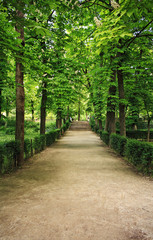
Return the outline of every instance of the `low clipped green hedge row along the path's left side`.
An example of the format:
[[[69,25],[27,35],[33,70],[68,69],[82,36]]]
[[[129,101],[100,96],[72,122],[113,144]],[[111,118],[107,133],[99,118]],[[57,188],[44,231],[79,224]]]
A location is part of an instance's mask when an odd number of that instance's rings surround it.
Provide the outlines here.
[[[50,146],[63,134],[69,127],[70,123],[66,122],[61,129],[52,130],[45,135],[38,135],[32,139],[24,140],[24,159]],[[11,172],[16,167],[16,155],[20,151],[19,142],[9,141],[0,143],[0,173]]]

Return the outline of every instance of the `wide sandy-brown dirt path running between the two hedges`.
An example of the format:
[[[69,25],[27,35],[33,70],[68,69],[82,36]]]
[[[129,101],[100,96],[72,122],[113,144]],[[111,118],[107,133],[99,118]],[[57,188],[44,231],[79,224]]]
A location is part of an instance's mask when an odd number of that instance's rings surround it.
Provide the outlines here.
[[[0,179],[0,240],[153,239],[153,182],[90,131]]]

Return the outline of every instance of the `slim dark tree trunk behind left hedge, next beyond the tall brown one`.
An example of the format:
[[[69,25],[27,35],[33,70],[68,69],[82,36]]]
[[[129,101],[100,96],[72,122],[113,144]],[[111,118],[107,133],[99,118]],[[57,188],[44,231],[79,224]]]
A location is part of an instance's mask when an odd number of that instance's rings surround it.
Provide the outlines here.
[[[47,82],[43,82],[40,116],[40,134],[45,134],[46,128],[46,102],[47,102]]]

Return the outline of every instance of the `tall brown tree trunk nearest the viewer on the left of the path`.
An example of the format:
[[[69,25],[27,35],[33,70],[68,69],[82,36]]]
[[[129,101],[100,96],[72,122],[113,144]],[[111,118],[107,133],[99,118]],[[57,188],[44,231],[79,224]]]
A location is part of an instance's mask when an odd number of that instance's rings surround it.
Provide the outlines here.
[[[16,12],[17,17],[23,21],[24,14],[21,11]],[[22,40],[24,46],[24,29],[23,26],[17,24],[16,31],[20,34],[19,39]],[[18,55],[23,56],[23,49],[20,48]],[[17,154],[17,166],[21,166],[24,161],[24,83],[23,83],[23,65],[21,58],[16,59],[16,132],[15,140],[20,142],[20,151]]]

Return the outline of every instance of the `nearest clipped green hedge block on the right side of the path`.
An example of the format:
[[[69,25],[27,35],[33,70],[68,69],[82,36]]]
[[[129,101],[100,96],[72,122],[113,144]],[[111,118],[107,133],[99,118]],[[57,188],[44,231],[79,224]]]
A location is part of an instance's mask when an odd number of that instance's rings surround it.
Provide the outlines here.
[[[125,156],[139,170],[153,173],[153,146],[151,144],[129,139]]]

